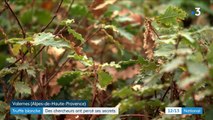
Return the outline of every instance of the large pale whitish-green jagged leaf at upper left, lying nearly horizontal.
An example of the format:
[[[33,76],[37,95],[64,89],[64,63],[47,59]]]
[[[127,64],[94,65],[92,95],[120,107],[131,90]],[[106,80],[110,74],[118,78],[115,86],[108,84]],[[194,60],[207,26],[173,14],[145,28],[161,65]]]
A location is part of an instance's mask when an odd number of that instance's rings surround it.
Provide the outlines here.
[[[70,48],[68,41],[57,38],[52,33],[38,33],[33,36],[33,45],[52,46],[57,48]]]

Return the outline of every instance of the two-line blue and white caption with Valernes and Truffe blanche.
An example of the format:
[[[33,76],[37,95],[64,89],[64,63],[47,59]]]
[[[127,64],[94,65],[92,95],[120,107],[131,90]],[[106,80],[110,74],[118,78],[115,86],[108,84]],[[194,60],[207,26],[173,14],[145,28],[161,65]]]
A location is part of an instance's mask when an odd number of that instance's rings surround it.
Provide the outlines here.
[[[88,107],[86,100],[12,100],[10,114],[118,114],[118,107]]]

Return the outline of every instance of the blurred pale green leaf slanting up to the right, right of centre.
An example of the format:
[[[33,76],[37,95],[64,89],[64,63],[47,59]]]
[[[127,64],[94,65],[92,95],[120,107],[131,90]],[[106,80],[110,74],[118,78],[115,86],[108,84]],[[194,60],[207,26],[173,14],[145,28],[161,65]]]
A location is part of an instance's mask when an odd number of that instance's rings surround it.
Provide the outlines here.
[[[161,72],[171,72],[174,69],[178,68],[182,64],[184,64],[184,58],[183,57],[177,57],[177,58],[173,59],[171,62],[164,65]]]

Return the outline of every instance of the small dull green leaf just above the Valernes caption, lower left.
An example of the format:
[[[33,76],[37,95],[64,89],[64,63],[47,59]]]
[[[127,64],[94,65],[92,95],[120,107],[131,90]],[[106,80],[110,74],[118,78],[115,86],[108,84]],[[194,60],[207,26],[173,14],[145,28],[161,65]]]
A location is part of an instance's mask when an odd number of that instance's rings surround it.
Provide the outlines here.
[[[31,89],[27,83],[15,82],[14,87],[17,93],[21,94],[31,94]]]

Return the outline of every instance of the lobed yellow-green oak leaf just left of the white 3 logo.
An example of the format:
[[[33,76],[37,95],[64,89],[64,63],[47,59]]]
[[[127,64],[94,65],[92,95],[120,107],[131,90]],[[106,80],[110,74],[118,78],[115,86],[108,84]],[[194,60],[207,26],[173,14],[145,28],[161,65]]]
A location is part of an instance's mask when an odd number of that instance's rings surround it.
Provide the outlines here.
[[[165,13],[156,17],[156,21],[162,25],[170,27],[178,24],[179,20],[184,20],[187,13],[180,8],[170,6],[166,9]]]

